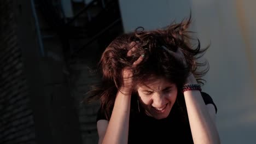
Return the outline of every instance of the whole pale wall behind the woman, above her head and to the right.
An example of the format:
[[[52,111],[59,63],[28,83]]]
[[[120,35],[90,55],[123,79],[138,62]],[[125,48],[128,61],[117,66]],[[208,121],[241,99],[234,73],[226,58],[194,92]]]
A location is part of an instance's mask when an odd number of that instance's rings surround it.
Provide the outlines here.
[[[120,0],[125,32],[146,30],[181,21],[191,9],[210,71],[203,90],[218,106],[222,143],[256,141],[256,1],[249,0]]]

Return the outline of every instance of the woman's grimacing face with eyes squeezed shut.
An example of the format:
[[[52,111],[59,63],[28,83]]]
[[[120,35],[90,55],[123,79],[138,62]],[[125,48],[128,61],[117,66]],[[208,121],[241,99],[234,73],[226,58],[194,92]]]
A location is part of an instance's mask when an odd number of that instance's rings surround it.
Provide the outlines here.
[[[166,118],[177,98],[177,86],[166,79],[149,79],[145,85],[138,86],[139,101],[148,116],[156,119]]]

